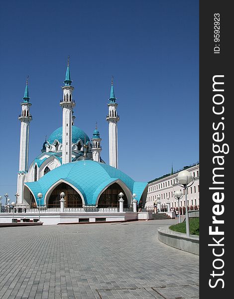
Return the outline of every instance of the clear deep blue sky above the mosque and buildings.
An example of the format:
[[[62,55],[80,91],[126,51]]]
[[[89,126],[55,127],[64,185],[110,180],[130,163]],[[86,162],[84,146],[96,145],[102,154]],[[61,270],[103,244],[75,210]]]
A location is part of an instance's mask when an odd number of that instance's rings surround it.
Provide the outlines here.
[[[32,103],[29,162],[62,126],[67,56],[75,125],[98,122],[109,163],[108,98],[114,76],[119,169],[148,181],[199,160],[199,1],[0,2],[0,195],[16,192],[26,76]]]

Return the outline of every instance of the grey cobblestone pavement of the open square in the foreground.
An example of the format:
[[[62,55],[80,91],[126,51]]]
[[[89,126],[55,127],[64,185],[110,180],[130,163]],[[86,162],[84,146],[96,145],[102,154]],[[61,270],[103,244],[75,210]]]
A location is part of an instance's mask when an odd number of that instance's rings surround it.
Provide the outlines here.
[[[198,298],[199,257],[158,240],[166,223],[0,228],[0,298]]]

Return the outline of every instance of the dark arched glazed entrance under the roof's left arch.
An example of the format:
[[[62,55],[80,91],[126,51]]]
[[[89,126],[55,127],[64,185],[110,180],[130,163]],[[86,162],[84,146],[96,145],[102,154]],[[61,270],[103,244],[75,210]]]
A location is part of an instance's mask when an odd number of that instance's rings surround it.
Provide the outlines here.
[[[79,208],[83,206],[82,198],[75,189],[66,183],[60,183],[52,193],[48,200],[48,208],[59,208],[60,207],[60,193],[64,192],[65,208]]]

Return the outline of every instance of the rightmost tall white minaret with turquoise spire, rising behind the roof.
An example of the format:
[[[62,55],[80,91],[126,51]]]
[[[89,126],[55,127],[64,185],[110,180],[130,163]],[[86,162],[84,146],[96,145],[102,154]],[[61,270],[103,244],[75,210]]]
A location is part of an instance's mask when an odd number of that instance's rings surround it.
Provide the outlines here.
[[[111,96],[108,103],[109,115],[107,116],[107,121],[109,122],[109,159],[110,165],[118,168],[118,132],[117,132],[117,122],[119,121],[119,116],[117,115],[117,106],[113,77],[112,77],[112,87]]]

